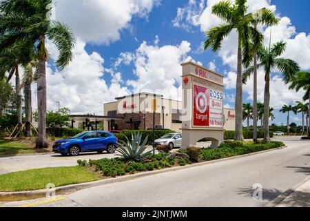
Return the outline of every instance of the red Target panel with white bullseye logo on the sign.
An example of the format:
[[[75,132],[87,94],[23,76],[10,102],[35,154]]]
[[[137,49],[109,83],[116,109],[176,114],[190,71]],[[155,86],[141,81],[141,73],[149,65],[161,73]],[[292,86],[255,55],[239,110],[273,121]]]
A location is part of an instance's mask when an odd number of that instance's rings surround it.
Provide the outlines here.
[[[209,90],[194,85],[194,126],[209,126]]]

